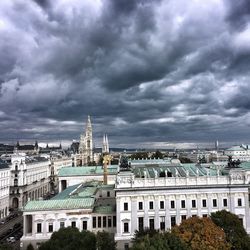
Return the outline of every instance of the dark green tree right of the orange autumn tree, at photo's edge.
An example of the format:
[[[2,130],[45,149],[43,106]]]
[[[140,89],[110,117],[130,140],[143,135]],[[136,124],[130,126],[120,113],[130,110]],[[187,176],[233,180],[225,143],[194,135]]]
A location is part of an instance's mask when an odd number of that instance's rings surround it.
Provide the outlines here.
[[[231,249],[250,250],[250,238],[237,215],[221,210],[212,213],[211,219],[224,230]]]

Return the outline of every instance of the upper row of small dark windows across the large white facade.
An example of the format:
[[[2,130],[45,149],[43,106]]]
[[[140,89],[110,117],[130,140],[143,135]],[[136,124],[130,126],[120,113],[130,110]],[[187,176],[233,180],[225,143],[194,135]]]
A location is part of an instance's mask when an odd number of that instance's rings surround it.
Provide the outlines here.
[[[189,204],[187,204],[186,200],[180,200],[180,208],[187,208],[187,207],[191,207],[191,208],[197,208],[197,200],[193,199],[188,201]],[[212,199],[212,207],[218,207],[218,199]],[[175,209],[177,207],[176,204],[176,200],[170,200],[170,204],[169,204],[169,208],[170,209]],[[144,203],[142,201],[138,202],[138,210],[143,210],[144,209]],[[228,207],[228,199],[224,198],[222,200],[222,205],[223,207]],[[237,198],[237,206],[238,207],[242,207],[243,206],[243,202],[242,202],[242,198]],[[207,199],[202,199],[201,200],[201,207],[206,208],[208,207],[208,200]],[[160,201],[159,202],[159,209],[165,209],[165,201]],[[154,210],[155,209],[155,202],[154,201],[149,201],[148,202],[148,209],[149,210]],[[124,211],[129,211],[129,203],[128,202],[124,202],[123,203],[123,210]]]

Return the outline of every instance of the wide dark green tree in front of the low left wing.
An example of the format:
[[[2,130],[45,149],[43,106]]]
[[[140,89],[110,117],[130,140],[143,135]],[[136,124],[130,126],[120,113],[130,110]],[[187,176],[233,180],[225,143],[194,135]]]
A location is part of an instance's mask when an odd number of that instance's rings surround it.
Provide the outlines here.
[[[39,250],[95,250],[96,236],[89,231],[79,232],[77,228],[61,228],[54,232],[50,240],[43,243]]]

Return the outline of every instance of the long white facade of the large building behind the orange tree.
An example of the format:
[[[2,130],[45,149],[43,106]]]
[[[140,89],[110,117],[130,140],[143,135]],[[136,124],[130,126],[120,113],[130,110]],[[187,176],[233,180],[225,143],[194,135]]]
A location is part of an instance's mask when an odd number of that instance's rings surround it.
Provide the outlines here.
[[[250,171],[230,170],[223,176],[209,169],[198,169],[196,175],[190,175],[188,168],[182,170],[175,168],[171,177],[159,177],[156,172],[145,178],[129,171],[117,175],[118,249],[131,245],[135,230],[167,230],[188,217],[207,217],[223,209],[238,215],[250,233]]]

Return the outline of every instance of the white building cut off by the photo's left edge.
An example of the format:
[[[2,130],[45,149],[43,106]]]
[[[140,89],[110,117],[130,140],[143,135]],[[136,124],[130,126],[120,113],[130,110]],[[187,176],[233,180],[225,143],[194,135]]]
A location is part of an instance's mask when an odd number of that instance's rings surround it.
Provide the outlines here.
[[[9,214],[10,168],[0,159],[0,219]]]

